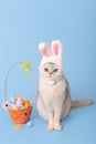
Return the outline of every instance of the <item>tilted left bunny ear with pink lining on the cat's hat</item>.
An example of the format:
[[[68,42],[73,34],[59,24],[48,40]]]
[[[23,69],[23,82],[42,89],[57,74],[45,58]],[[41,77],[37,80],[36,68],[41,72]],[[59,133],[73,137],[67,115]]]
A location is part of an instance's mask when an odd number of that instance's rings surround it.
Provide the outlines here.
[[[51,52],[46,43],[40,43],[39,44],[39,50],[43,54],[43,56],[50,56]]]

